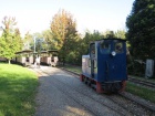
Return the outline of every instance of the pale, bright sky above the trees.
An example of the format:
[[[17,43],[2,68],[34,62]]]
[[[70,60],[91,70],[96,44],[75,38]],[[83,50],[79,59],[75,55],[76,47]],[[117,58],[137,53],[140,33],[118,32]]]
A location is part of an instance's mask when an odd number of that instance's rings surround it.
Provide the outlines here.
[[[3,17],[14,17],[22,35],[50,29],[52,18],[64,9],[73,15],[80,33],[86,30],[125,30],[134,0],[0,0]]]

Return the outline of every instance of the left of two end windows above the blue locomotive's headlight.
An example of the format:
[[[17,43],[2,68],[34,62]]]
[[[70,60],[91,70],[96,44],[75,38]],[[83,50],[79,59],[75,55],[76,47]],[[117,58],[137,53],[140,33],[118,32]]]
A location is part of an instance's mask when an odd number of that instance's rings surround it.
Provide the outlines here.
[[[111,42],[110,41],[101,42],[100,49],[101,49],[101,52],[104,54],[110,53],[111,52]]]

